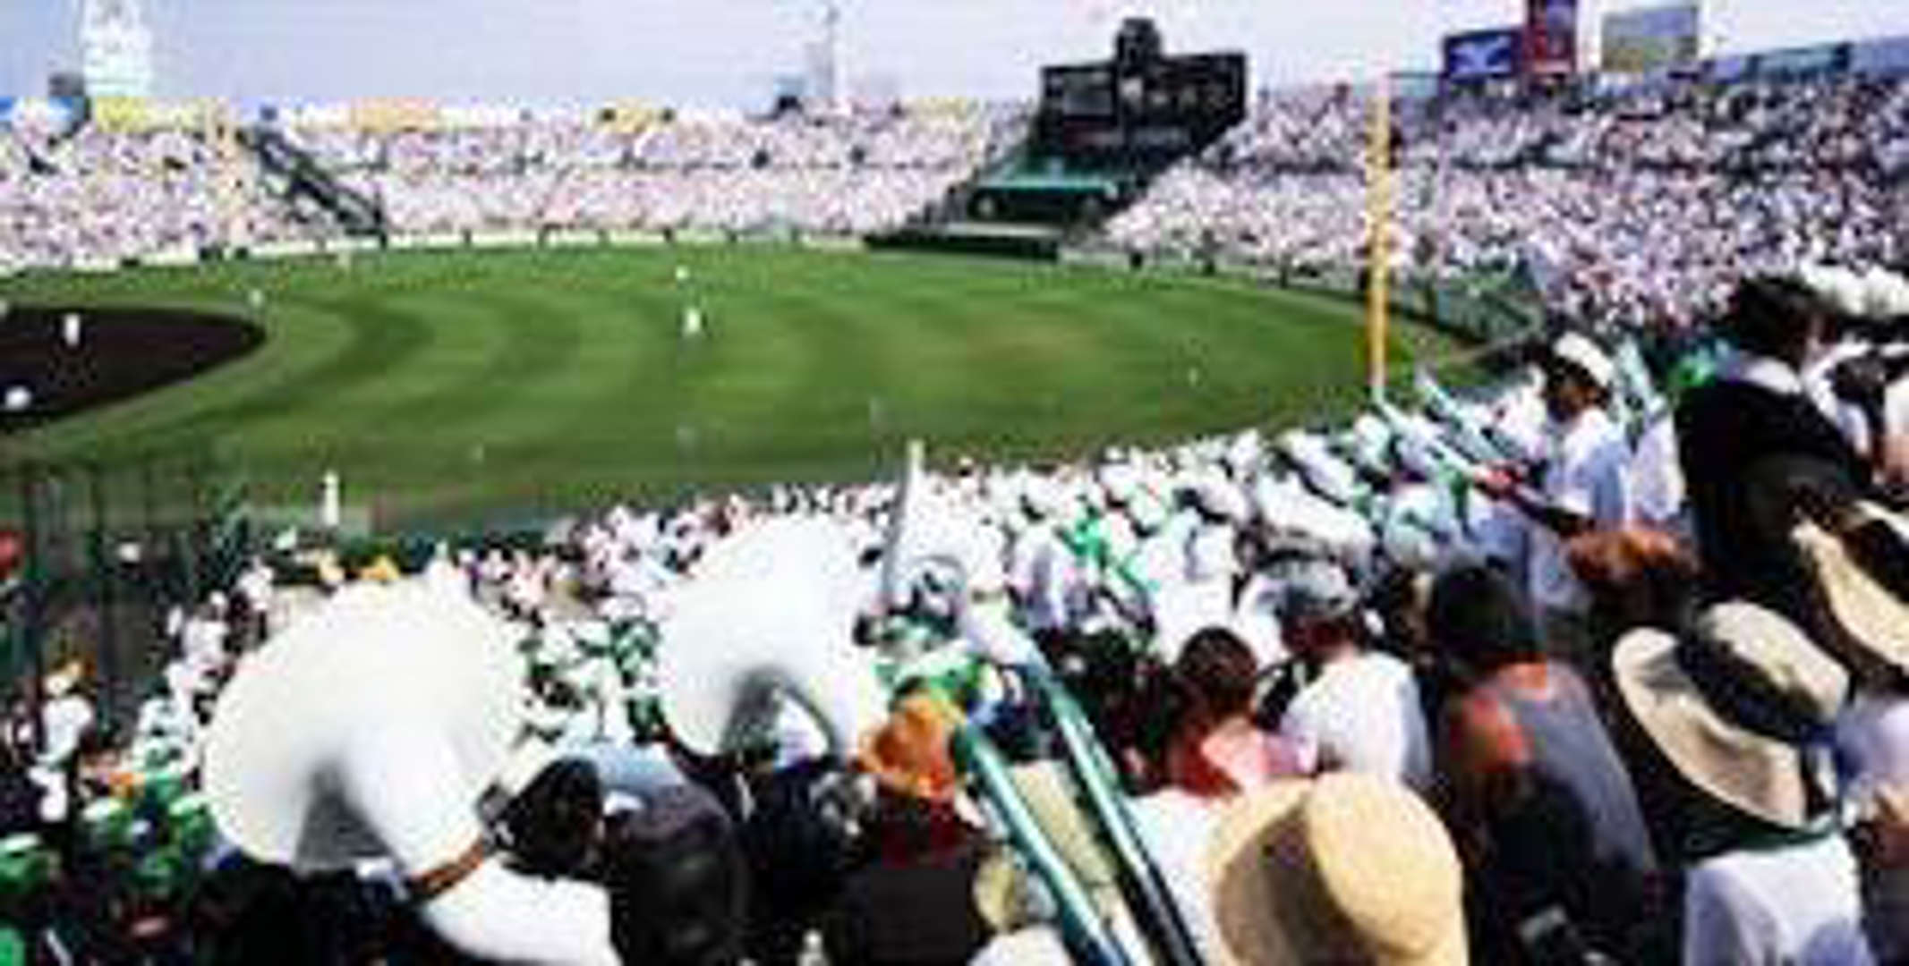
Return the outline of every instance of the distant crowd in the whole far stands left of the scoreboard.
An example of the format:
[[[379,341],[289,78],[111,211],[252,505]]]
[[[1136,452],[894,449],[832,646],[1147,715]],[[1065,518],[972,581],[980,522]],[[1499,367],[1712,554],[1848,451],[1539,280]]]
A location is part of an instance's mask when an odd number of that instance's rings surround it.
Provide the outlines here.
[[[393,231],[802,229],[899,225],[1016,143],[1012,107],[855,118],[683,118],[370,134],[290,128],[376,199]],[[309,195],[204,130],[0,128],[0,271],[116,265],[340,233]]]

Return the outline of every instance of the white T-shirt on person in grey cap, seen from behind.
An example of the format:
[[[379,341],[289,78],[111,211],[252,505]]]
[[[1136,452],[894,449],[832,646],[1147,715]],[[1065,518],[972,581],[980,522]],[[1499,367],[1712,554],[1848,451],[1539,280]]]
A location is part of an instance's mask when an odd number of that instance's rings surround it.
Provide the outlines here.
[[[1279,733],[1298,746],[1308,773],[1357,771],[1432,788],[1418,682],[1403,661],[1361,653],[1332,661],[1287,706]]]

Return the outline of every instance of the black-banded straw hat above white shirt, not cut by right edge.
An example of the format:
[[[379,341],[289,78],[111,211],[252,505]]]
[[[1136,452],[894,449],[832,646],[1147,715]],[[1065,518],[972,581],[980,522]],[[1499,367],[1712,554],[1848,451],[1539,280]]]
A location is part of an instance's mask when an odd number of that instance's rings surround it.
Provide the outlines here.
[[[1848,676],[1794,624],[1754,603],[1718,603],[1682,640],[1632,630],[1611,662],[1630,714],[1695,787],[1785,829],[1821,813],[1831,787],[1817,748]]]

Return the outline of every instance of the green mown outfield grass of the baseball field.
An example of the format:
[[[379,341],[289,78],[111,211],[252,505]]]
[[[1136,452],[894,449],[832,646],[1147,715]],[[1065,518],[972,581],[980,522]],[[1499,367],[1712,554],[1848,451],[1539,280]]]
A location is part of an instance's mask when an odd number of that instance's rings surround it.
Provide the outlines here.
[[[909,437],[1033,458],[1331,418],[1363,353],[1357,305],[1325,296],[775,246],[227,263],[13,279],[0,298],[204,307],[269,332],[191,384],[6,443],[15,456],[210,441],[254,502],[309,506],[336,468],[380,527],[867,479]],[[701,342],[680,338],[689,298]],[[1399,326],[1394,346],[1445,344]]]

